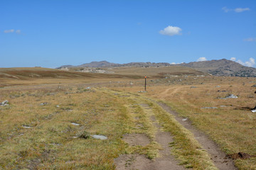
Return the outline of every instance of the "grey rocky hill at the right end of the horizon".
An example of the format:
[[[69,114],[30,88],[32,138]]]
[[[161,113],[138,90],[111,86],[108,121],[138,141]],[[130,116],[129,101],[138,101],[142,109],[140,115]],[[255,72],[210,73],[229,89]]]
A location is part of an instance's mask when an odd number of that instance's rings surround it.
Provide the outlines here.
[[[207,72],[215,76],[231,77],[256,77],[256,69],[245,67],[238,62],[230,60],[210,60],[204,62],[189,62],[178,64],[183,67],[190,67],[201,72]]]

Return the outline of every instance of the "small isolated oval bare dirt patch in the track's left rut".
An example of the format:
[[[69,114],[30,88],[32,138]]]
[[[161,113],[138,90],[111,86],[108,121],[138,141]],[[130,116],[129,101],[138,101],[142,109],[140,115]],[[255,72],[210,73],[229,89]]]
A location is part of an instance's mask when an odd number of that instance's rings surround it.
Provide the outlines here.
[[[126,134],[123,136],[123,140],[132,146],[141,145],[144,147],[150,143],[149,137],[143,133]]]

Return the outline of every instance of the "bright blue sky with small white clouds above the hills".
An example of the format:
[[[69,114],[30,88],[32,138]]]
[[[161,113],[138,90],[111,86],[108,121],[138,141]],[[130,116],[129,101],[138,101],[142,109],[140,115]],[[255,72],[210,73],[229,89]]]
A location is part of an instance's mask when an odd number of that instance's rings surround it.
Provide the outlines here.
[[[255,0],[0,0],[0,16],[0,67],[256,65]]]

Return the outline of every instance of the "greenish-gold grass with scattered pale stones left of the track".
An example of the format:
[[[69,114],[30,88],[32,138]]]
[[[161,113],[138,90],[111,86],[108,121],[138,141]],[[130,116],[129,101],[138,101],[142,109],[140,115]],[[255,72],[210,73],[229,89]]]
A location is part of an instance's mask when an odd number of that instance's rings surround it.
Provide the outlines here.
[[[2,169],[114,169],[114,158],[126,146],[124,101],[95,90],[66,90],[15,98],[1,94],[10,101],[1,107]],[[40,106],[43,102],[48,105]],[[108,139],[73,138],[82,132]]]

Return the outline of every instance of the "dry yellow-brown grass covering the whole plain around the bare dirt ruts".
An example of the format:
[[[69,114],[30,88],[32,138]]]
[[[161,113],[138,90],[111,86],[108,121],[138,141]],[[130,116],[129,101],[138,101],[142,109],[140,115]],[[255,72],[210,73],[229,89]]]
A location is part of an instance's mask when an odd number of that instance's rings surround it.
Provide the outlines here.
[[[197,72],[184,76],[177,70],[160,69],[164,74],[155,74],[149,68],[135,70],[140,72],[135,76],[128,76],[131,69],[123,69],[122,75],[35,69],[0,70],[0,102],[9,101],[9,106],[0,106],[1,169],[114,169],[115,158],[134,153],[155,159],[161,148],[151,115],[174,135],[171,149],[180,164],[215,169],[191,132],[156,101],[191,120],[227,155],[250,154],[247,159],[235,159],[239,169],[256,169],[256,114],[250,112],[256,104],[255,78],[201,77]],[[32,74],[40,77],[30,77]],[[144,90],[144,79],[137,78],[144,74],[149,75],[147,93],[138,93]],[[238,98],[220,99],[228,94]],[[139,103],[147,103],[152,111]],[[143,128],[137,128],[138,124]],[[149,145],[127,145],[122,140],[127,133],[144,133]],[[96,140],[90,135],[108,139]]]

